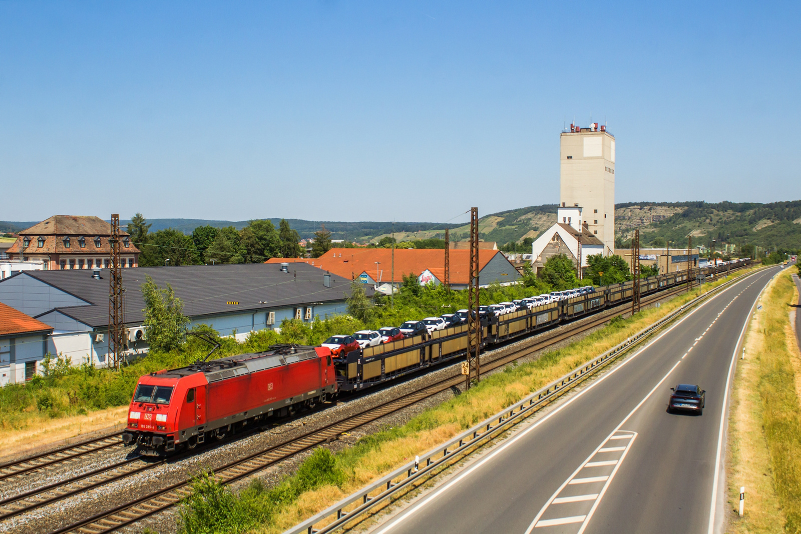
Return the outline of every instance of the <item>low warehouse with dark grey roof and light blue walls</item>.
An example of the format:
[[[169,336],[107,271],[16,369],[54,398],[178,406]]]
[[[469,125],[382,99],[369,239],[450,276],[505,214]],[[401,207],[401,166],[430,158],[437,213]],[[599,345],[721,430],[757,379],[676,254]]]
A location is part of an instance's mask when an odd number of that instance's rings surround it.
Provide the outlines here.
[[[150,276],[169,283],[183,301],[190,327],[204,323],[243,340],[251,331],[277,328],[284,319],[312,321],[347,310],[350,279],[311,265],[239,264],[123,269],[128,352],[147,351],[142,284]],[[370,291],[372,293],[372,290]],[[24,271],[0,280],[0,303],[52,327],[51,354],[74,363],[106,365],[108,271]]]

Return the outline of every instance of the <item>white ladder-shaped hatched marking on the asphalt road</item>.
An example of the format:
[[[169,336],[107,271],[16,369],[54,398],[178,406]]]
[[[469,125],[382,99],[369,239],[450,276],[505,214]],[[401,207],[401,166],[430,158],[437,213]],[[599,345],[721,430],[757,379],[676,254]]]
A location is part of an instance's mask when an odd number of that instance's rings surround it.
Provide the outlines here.
[[[628,440],[628,443],[624,447],[606,447],[606,444],[613,438],[616,440]],[[534,517],[534,520],[529,524],[529,529],[525,531],[526,534],[530,534],[534,528],[547,528],[578,523],[581,523],[578,532],[582,532],[586,527],[587,521],[590,520],[590,516],[592,516],[595,507],[598,505],[598,500],[601,500],[604,492],[606,492],[606,488],[611,484],[615,473],[618,472],[618,468],[620,468],[623,460],[626,459],[626,454],[628,454],[636,438],[637,432],[615,429],[610,436],[606,437],[606,440],[603,440],[603,442],[595,448],[590,456],[587,456],[586,460],[573,472],[570,478],[565,480],[562,486],[550,497],[548,502],[545,503],[545,506],[541,508],[537,516]],[[594,460],[599,454],[606,456],[610,453],[620,453],[620,456],[618,456],[616,460]],[[608,475],[577,478],[577,475],[584,469],[590,468],[595,470],[597,468],[610,468],[612,466],[614,466],[614,468],[612,468]],[[574,484],[603,484],[603,486],[598,493],[588,493],[580,496],[559,496],[563,491],[566,491],[568,486]],[[568,492],[570,491],[568,490]],[[582,514],[582,512],[586,513]],[[543,516],[549,517],[543,518]],[[581,520],[578,520],[579,517]],[[560,532],[565,531],[564,529],[560,529]]]

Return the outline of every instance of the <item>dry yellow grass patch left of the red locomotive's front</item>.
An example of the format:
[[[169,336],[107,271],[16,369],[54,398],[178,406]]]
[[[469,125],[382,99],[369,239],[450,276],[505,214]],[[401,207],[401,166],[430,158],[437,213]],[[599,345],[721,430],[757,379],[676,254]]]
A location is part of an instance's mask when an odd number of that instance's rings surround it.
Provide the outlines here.
[[[125,424],[127,406],[90,412],[85,416],[50,419],[42,416],[31,420],[22,430],[0,430],[0,450],[3,456],[34,452],[38,448],[73,443],[83,434],[105,429],[120,430]]]

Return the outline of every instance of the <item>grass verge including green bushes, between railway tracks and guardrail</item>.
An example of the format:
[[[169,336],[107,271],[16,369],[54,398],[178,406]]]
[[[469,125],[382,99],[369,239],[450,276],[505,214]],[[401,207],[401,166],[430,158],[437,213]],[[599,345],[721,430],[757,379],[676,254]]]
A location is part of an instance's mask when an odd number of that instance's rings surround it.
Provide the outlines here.
[[[316,455],[330,455],[332,461],[324,463],[326,471],[314,478],[316,482],[312,484],[308,483],[310,479],[303,474],[303,470],[308,462],[319,463],[320,458],[316,456],[305,460],[298,474],[288,477],[272,489],[264,488],[259,480],[254,480],[248,488],[235,494],[229,488],[220,488],[207,475],[200,476],[195,481],[195,492],[182,505],[181,530],[187,534],[283,532],[405,464],[417,454],[436,447],[516,403],[531,391],[586,362],[590,355],[609,350],[635,332],[669,315],[701,292],[710,291],[725,281],[722,279],[714,284],[706,284],[660,307],[648,307],[633,318],[615,320],[568,347],[545,353],[534,362],[509,365],[504,371],[486,376],[477,387],[426,410],[407,424],[365,436],[351,448],[335,455],[327,451],[316,452]],[[303,491],[292,488],[302,488]],[[203,495],[214,497],[211,500],[197,500],[197,496]],[[213,502],[214,505],[208,505],[207,502]],[[248,513],[242,510],[248,510]],[[225,518],[231,516],[239,520],[228,522]],[[215,517],[222,518],[221,522],[215,522]]]

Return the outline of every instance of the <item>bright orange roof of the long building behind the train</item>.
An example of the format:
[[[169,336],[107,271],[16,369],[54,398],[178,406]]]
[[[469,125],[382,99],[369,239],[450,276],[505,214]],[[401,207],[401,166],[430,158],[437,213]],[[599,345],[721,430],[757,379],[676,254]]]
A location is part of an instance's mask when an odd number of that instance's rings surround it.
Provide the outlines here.
[[[470,251],[450,251],[450,282],[468,282]],[[500,251],[479,250],[478,270],[481,271]],[[269,260],[272,262],[272,260]],[[287,261],[284,259],[284,261]],[[354,279],[366,272],[376,279],[376,262],[382,283],[388,283],[392,278],[392,249],[389,248],[332,248],[320,258],[304,259],[305,263],[313,262],[315,267],[331,271],[335,275]],[[276,261],[275,263],[280,263]],[[421,272],[429,269],[440,278],[437,273],[445,271],[445,251],[437,248],[396,248],[395,249],[395,282],[403,280],[404,275],[413,273],[419,276]],[[383,271],[383,272],[381,272]],[[444,277],[444,274],[442,275]]]

